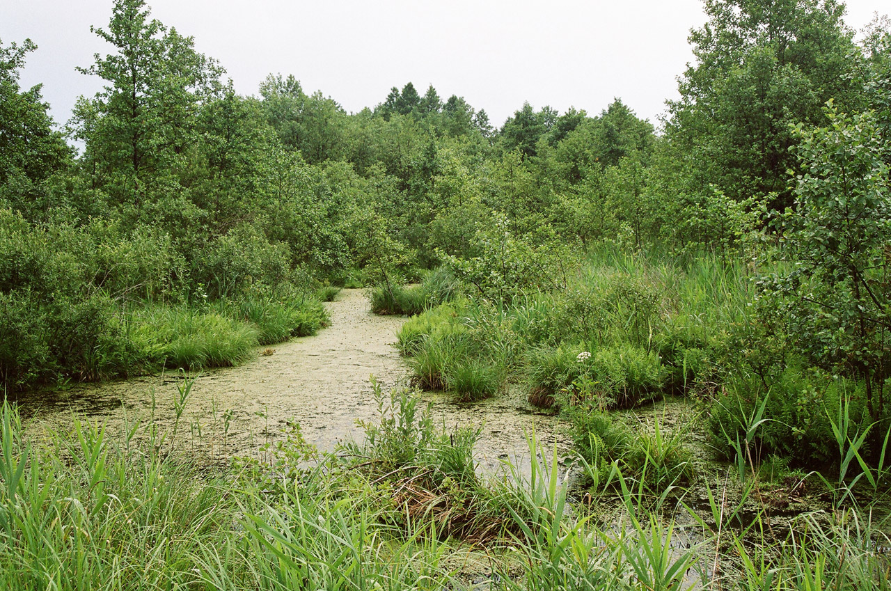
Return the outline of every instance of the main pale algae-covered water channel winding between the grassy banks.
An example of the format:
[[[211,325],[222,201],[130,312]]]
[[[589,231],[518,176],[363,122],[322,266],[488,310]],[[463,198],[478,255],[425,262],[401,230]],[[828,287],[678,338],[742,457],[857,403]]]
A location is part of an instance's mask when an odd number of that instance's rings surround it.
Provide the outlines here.
[[[177,428],[178,446],[210,459],[256,456],[266,442],[282,439],[297,423],[310,443],[331,450],[341,439],[359,438],[356,420],[378,418],[369,377],[382,388],[407,385],[405,365],[393,347],[404,321],[372,315],[361,290],[343,290],[326,304],[331,326],[315,337],[274,345],[238,367],[196,373]],[[29,429],[66,430],[72,415],[87,415],[119,434],[136,420],[170,431],[176,420],[176,398],[183,373],[121,382],[81,384],[63,392],[32,393],[20,398]],[[486,472],[500,459],[528,463],[525,432],[535,431],[547,446],[563,438],[556,420],[528,406],[519,392],[456,406],[445,395],[425,393],[433,416],[446,429],[482,427],[477,456]],[[525,458],[525,460],[524,460]]]

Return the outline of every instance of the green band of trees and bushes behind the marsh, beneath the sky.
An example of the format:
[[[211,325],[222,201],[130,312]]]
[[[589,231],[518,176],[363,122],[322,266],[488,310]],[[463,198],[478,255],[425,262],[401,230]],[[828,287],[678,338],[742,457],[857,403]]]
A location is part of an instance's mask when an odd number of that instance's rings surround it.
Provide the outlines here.
[[[596,114],[524,103],[496,128],[412,83],[357,113],[293,76],[241,96],[141,0],[116,0],[96,29],[114,50],[83,71],[104,87],[63,133],[39,86],[19,86],[35,46],[0,45],[4,388],[171,364],[169,342],[133,336],[145,310],[239,323],[326,283],[398,283],[449,258],[472,267],[495,227],[531,252],[609,242],[736,258],[751,231],[782,235],[771,212],[798,199],[796,176],[816,174],[803,133],[845,112],[871,112],[866,149],[887,165],[887,23],[855,42],[831,1],[706,9],[659,133],[618,99]]]

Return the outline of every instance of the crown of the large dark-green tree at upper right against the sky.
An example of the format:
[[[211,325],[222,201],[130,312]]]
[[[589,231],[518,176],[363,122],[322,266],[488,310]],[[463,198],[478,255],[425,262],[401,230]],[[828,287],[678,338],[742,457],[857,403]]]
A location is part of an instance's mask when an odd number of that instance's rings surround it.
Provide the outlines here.
[[[786,171],[800,169],[790,124],[817,124],[827,100],[853,104],[862,92],[844,5],[718,0],[706,12],[666,135],[697,162],[693,193],[713,183],[734,201],[775,193],[772,207],[784,209]]]

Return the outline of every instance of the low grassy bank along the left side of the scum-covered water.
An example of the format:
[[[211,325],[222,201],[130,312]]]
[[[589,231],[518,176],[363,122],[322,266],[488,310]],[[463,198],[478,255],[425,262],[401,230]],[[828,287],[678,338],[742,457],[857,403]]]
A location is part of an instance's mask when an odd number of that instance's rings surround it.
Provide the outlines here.
[[[12,310],[0,320],[0,373],[9,390],[127,377],[164,367],[238,365],[258,345],[315,334],[329,322],[319,300],[300,294],[248,294],[210,304],[136,302],[127,308],[96,296],[58,313],[30,309],[33,325],[20,325],[25,313]]]

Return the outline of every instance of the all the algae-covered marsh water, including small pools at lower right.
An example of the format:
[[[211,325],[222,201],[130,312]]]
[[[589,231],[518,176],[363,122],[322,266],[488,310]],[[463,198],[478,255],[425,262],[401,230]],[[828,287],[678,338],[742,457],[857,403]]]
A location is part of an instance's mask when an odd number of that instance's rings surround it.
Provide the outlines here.
[[[22,414],[27,417],[29,431],[38,437],[41,432],[68,430],[76,416],[105,425],[112,436],[132,429],[137,421],[168,434],[176,425],[174,445],[210,464],[226,464],[233,456],[262,459],[265,444],[286,437],[293,425],[299,425],[304,439],[320,450],[334,450],[340,441],[363,437],[357,422],[379,420],[372,375],[385,392],[409,387],[409,379],[395,347],[396,332],[404,318],[372,315],[360,290],[340,291],[326,307],[331,326],[318,335],[257,349],[255,359],[237,367],[188,376],[194,382],[178,422],[176,407],[187,380],[177,372],[32,392],[20,398]],[[441,392],[423,392],[421,396],[446,431],[467,425],[480,429],[475,458],[478,471],[485,475],[503,471],[503,460],[510,460],[520,473],[528,475],[527,438],[533,434],[545,449],[557,447],[559,456],[568,454],[566,424],[530,406],[520,388],[472,404],[456,404]],[[686,401],[668,400],[623,415],[637,430],[652,431],[658,424],[663,430],[684,431],[684,439],[696,450],[694,463],[703,483],[687,490],[682,500],[703,520],[713,523],[705,486],[715,494],[727,492],[733,479],[730,466],[716,462],[705,451],[703,430],[691,428],[701,423],[696,408]],[[135,432],[141,433],[137,437],[148,437],[149,430]],[[170,439],[166,441],[169,444]],[[574,478],[571,472],[563,472],[564,478]],[[734,487],[729,488],[733,497]],[[584,504],[584,497],[576,500]],[[727,502],[732,505],[735,501],[729,498]],[[603,499],[601,503],[595,513],[600,513],[603,527],[623,527],[621,507],[616,502],[603,503]],[[825,505],[814,498],[796,498],[778,509],[753,499],[740,513],[736,526],[744,529],[749,520],[766,515],[769,527],[774,523],[785,529],[790,517]],[[699,543],[702,532],[689,513],[680,511],[674,519],[679,527],[671,546],[677,554]]]

